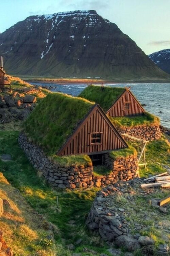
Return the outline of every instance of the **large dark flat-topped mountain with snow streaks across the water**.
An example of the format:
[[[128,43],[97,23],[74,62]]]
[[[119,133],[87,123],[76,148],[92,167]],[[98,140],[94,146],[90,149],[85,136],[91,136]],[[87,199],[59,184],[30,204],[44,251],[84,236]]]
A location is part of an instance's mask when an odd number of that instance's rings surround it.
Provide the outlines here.
[[[168,76],[94,10],[27,17],[0,34],[0,55],[6,72],[18,76]]]

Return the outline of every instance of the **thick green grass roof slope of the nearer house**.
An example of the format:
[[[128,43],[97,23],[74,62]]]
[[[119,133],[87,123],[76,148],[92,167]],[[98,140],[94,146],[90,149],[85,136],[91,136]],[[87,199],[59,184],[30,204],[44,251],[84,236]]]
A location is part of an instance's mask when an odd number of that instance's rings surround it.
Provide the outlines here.
[[[94,102],[63,93],[48,94],[24,122],[24,131],[51,156],[73,134]]]

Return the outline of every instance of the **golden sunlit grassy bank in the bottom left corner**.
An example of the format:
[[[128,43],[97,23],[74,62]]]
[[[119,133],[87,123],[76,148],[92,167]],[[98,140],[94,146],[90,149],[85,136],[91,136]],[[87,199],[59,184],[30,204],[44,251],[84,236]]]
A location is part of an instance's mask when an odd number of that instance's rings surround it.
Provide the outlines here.
[[[34,210],[26,203],[17,189],[12,187],[0,173],[0,198],[6,199],[10,206],[4,207],[0,218],[0,229],[4,239],[15,253],[15,256],[54,256],[55,246],[45,248],[41,239],[50,232],[42,228],[42,221]]]

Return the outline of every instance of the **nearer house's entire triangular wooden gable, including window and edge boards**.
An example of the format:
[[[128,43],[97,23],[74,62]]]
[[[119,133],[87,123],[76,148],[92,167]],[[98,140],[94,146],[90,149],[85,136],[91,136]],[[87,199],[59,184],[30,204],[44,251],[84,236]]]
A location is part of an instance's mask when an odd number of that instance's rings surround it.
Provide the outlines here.
[[[125,140],[98,104],[82,120],[57,155],[99,154],[127,148]]]

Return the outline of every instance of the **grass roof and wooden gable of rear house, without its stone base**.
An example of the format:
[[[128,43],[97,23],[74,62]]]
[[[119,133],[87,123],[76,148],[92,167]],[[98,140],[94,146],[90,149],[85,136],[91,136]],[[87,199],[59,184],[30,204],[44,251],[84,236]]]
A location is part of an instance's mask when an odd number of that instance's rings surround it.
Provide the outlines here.
[[[98,103],[108,116],[140,116],[144,108],[131,93],[130,88],[101,87],[90,85],[79,95]]]

